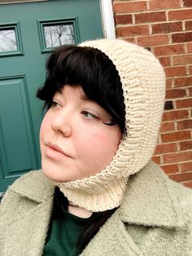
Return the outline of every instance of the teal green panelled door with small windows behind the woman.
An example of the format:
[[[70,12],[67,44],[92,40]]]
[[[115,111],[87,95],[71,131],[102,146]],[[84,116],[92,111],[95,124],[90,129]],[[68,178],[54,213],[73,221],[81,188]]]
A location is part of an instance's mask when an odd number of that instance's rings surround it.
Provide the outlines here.
[[[0,5],[0,195],[41,167],[41,103],[46,56],[55,46],[103,38],[99,0]]]

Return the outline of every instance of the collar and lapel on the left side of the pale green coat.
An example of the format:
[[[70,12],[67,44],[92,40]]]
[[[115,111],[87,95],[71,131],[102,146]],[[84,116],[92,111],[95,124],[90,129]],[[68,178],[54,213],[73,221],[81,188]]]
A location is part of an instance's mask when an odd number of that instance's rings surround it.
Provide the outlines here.
[[[7,216],[6,247],[2,255],[42,255],[52,210],[54,185],[33,171],[15,182],[11,192],[20,194],[14,219]],[[6,218],[6,216],[4,216]]]

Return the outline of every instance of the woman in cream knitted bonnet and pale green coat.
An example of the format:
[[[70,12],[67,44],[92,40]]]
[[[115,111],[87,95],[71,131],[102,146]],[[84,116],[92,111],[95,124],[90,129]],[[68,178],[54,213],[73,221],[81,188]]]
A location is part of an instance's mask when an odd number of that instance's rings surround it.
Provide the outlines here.
[[[37,97],[42,170],[3,198],[1,255],[191,255],[192,192],[151,161],[158,60],[120,40],[61,46]]]

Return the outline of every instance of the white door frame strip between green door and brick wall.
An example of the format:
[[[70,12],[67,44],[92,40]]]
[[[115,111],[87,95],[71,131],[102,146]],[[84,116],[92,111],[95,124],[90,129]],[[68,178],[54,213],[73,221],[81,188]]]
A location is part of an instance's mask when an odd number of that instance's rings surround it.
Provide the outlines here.
[[[100,0],[100,6],[103,20],[104,38],[116,38],[116,27],[113,16],[112,0]]]

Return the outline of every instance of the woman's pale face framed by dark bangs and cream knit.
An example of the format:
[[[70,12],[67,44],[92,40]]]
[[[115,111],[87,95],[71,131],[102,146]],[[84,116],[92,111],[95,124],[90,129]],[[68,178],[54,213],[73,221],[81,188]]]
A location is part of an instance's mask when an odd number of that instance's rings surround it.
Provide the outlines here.
[[[41,123],[41,165],[56,182],[83,179],[104,170],[116,154],[120,127],[85,96],[81,86],[64,86]]]

